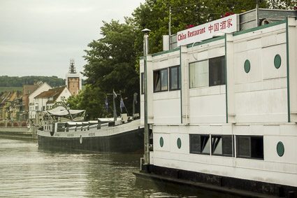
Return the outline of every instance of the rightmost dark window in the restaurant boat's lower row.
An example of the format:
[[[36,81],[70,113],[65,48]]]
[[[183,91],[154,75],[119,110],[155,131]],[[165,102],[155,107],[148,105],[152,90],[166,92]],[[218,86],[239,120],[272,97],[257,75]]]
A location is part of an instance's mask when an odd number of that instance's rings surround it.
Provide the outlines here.
[[[263,136],[236,136],[237,157],[263,160]]]

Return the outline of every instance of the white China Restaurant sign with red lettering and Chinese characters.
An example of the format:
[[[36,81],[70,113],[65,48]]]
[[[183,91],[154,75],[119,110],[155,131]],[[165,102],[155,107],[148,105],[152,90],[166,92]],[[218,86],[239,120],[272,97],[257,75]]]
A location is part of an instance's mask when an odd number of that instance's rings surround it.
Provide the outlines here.
[[[222,33],[238,31],[238,15],[229,15],[222,19],[178,31],[178,46],[196,43]]]

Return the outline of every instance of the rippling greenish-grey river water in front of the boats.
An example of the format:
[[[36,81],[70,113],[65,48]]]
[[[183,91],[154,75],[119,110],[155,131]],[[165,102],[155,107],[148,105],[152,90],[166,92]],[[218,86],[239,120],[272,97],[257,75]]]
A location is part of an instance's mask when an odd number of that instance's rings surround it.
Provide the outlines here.
[[[232,197],[136,178],[141,155],[44,150],[0,139],[0,197]]]

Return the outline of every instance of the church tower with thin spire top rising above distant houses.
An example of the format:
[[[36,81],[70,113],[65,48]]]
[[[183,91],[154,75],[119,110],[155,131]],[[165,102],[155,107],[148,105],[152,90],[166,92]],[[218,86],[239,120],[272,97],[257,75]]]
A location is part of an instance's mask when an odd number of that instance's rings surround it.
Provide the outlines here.
[[[70,59],[69,71],[66,73],[66,86],[73,95],[77,95],[82,90],[82,77],[76,72],[74,59]]]

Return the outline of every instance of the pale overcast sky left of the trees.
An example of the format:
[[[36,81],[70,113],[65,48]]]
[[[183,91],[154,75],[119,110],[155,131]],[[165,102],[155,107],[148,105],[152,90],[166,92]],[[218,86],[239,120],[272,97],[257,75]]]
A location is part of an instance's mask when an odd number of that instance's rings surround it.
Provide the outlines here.
[[[124,22],[145,0],[0,0],[0,76],[65,78],[77,71],[102,21]]]

